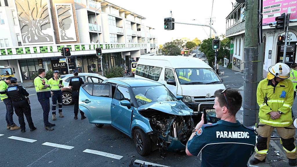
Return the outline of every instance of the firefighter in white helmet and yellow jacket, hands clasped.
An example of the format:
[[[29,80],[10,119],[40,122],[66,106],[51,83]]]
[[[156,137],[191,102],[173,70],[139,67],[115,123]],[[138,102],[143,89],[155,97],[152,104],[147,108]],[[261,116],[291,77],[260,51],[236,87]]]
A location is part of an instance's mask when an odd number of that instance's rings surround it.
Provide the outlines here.
[[[265,162],[271,132],[274,128],[282,139],[283,149],[290,166],[296,166],[297,152],[294,143],[295,128],[292,124],[292,105],[294,101],[293,83],[290,81],[290,68],[277,63],[268,68],[267,78],[257,87],[259,124],[257,125],[257,146],[251,164]]]

